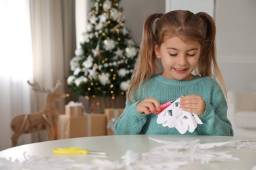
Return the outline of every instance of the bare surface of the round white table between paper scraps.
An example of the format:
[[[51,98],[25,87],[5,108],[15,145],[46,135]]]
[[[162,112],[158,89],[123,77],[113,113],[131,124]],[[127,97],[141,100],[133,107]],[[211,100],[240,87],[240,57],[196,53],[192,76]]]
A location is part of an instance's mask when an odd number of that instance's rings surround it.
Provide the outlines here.
[[[151,148],[161,146],[163,144],[156,143],[148,139],[161,139],[165,141],[193,141],[200,139],[200,143],[219,143],[230,140],[239,140],[237,137],[219,137],[219,136],[190,136],[190,135],[113,135],[101,137],[81,137],[73,139],[62,139],[56,141],[46,141],[41,143],[24,144],[16,146],[0,152],[0,158],[24,158],[24,152],[30,156],[50,156],[56,157],[60,155],[53,154],[53,148],[65,148],[75,146],[78,148],[88,148],[107,152],[107,159],[114,161],[120,160],[121,156],[127,150],[133,150],[139,154],[149,152]],[[182,166],[181,169],[251,169],[256,165],[256,150],[248,148],[226,148],[230,153],[240,161],[216,161],[208,164],[200,162],[192,162],[189,165]],[[67,155],[65,155],[67,156]],[[91,155],[68,155],[77,162],[91,162],[94,156]]]

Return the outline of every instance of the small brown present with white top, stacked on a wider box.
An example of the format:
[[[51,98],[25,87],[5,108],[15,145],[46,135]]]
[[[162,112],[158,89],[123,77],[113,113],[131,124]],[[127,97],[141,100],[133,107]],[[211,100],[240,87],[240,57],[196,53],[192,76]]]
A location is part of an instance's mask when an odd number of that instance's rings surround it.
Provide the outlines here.
[[[67,116],[82,116],[83,104],[79,102],[70,101],[68,105],[65,105],[65,114]]]

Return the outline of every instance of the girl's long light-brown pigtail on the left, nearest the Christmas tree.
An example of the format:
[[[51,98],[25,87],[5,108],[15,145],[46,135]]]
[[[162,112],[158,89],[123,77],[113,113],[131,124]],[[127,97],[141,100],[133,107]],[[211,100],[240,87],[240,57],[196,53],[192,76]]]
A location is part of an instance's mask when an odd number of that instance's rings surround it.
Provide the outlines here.
[[[135,69],[131,76],[131,83],[127,91],[127,97],[131,102],[131,96],[136,101],[135,93],[139,91],[140,85],[158,71],[158,62],[154,53],[154,27],[158,20],[158,14],[148,16],[144,22],[142,41],[140,44],[139,58],[135,63]]]

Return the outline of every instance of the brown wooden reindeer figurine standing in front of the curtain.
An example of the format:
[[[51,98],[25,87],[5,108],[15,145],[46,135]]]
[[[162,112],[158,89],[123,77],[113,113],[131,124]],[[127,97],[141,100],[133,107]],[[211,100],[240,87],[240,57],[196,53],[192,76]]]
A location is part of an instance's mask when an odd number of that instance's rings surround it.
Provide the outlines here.
[[[18,138],[23,133],[34,133],[45,129],[47,130],[49,140],[53,140],[54,127],[57,124],[59,114],[56,108],[56,101],[66,97],[64,93],[54,92],[60,86],[60,80],[56,82],[53,90],[41,88],[37,82],[32,84],[28,81],[28,84],[32,86],[35,92],[48,93],[47,100],[45,107],[41,111],[31,114],[21,114],[12,119],[11,128],[14,131],[14,135],[12,135],[12,146],[17,146]]]

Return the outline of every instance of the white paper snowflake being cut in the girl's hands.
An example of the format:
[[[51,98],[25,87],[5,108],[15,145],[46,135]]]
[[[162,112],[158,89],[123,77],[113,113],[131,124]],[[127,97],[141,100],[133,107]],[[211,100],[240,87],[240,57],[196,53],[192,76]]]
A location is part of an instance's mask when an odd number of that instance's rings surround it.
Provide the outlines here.
[[[171,103],[168,107],[158,114],[156,122],[163,127],[175,127],[179,133],[186,131],[193,132],[198,124],[203,124],[198,115],[192,112],[186,112],[180,108],[181,97]]]

